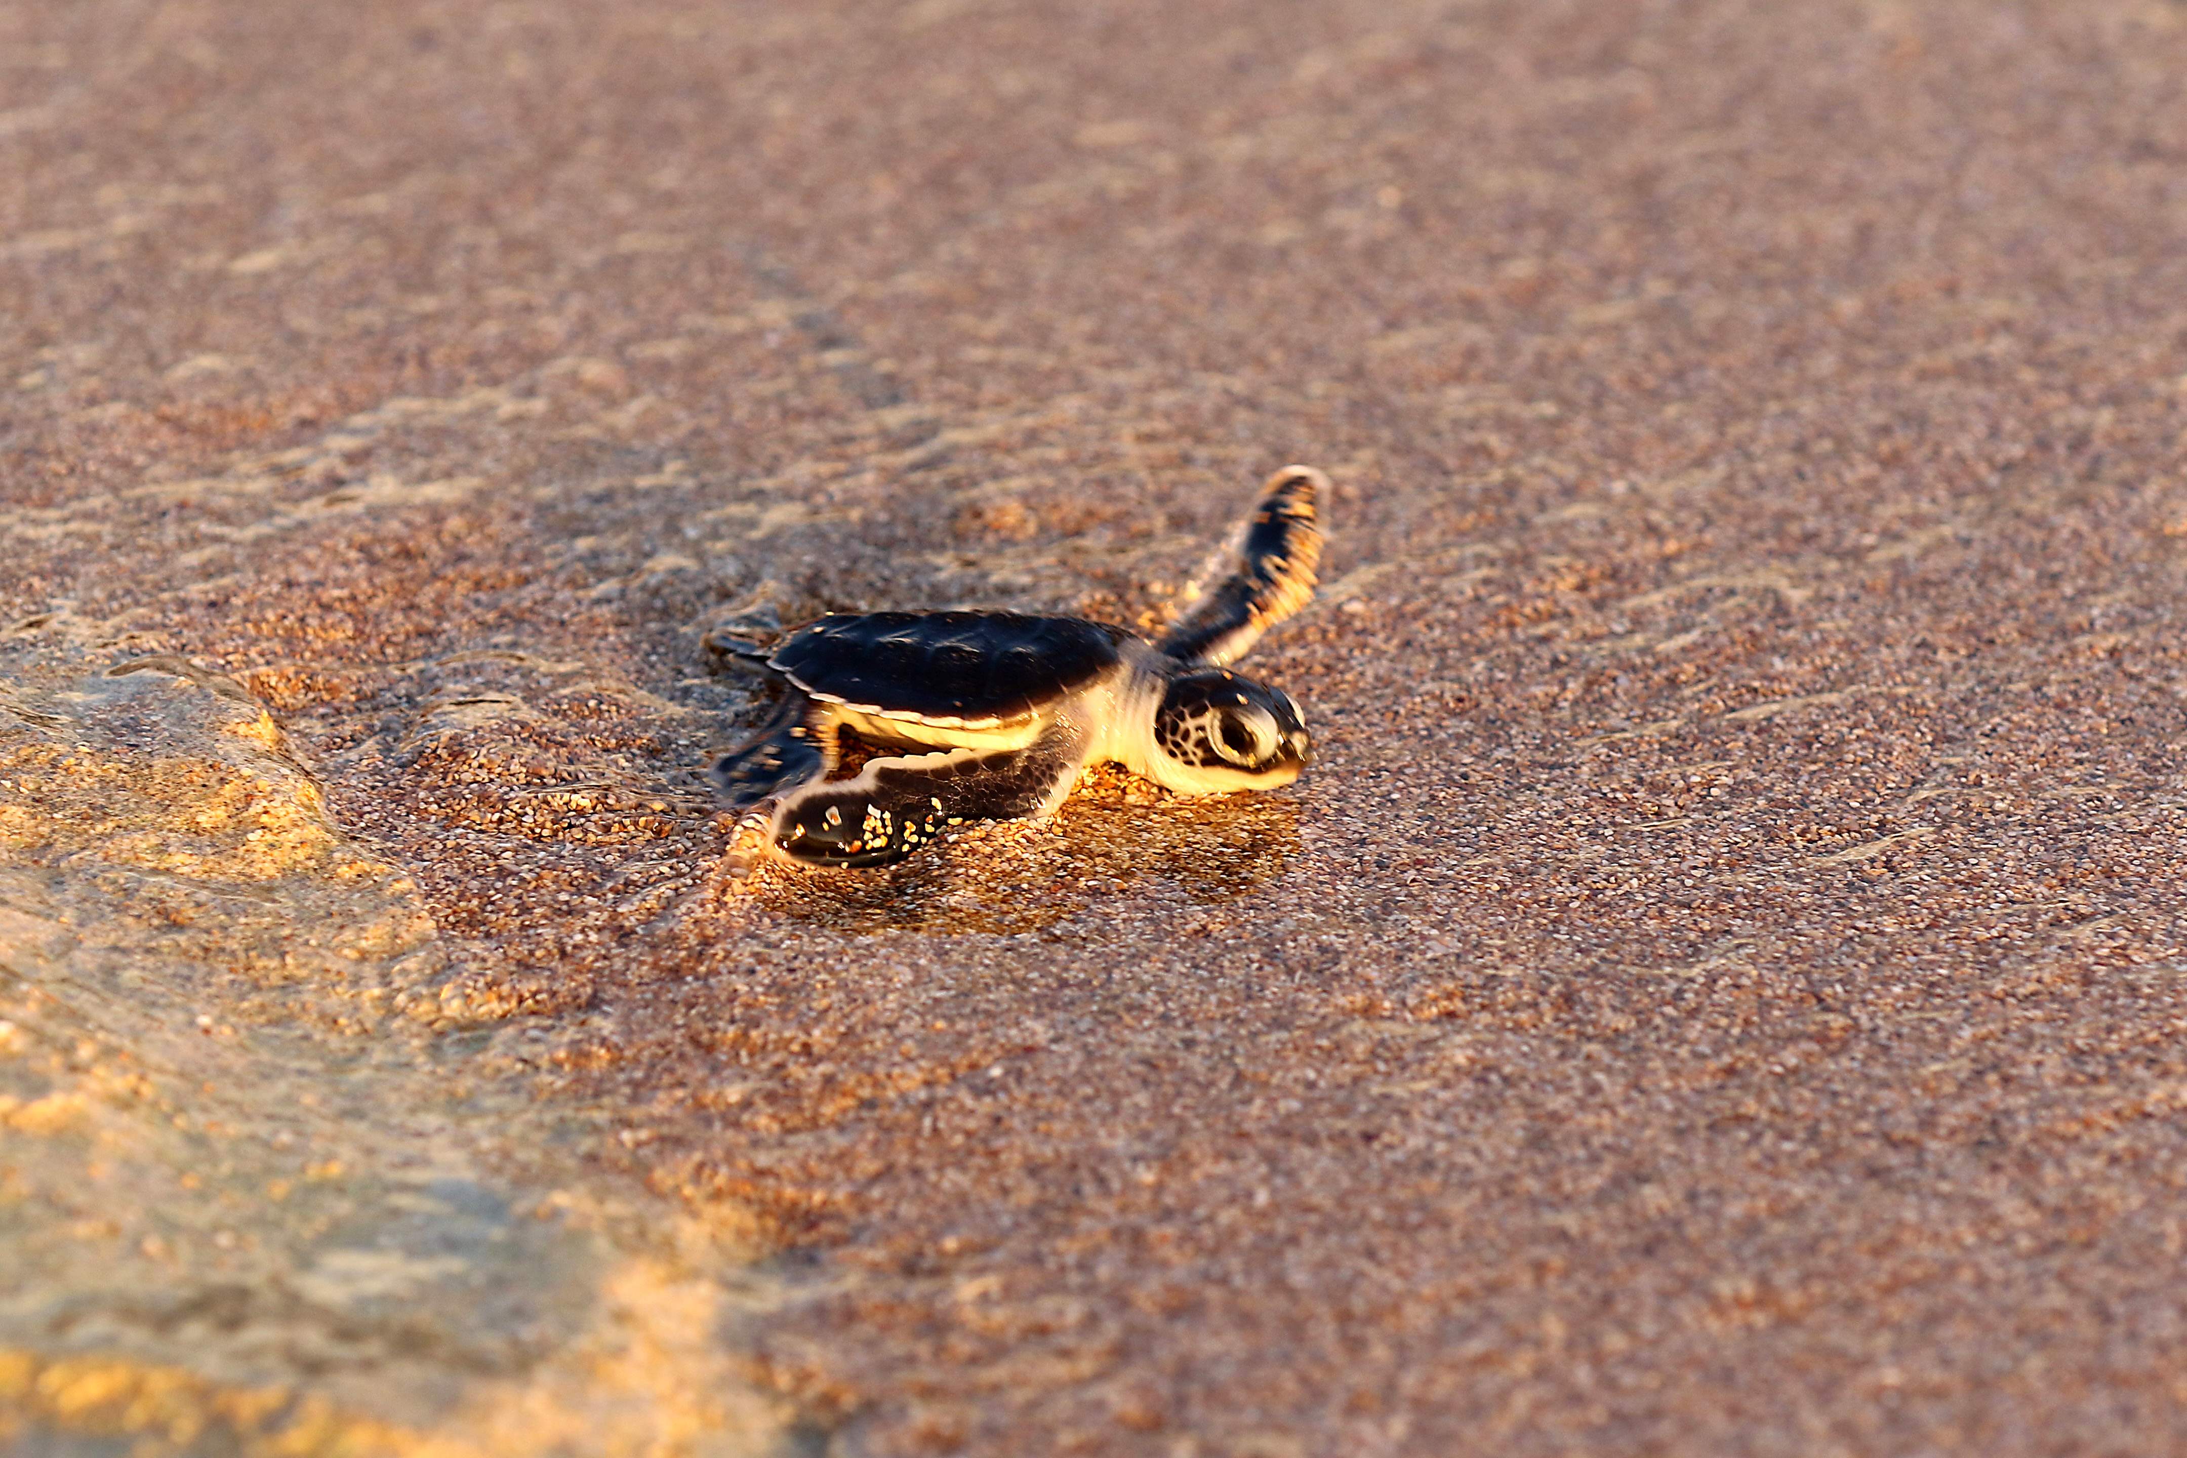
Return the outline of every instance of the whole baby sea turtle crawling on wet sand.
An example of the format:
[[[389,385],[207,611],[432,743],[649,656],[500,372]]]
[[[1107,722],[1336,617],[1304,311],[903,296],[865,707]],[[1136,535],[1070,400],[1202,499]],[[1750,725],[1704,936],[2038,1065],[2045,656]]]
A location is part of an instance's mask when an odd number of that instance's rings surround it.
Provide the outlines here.
[[[785,680],[774,717],[711,769],[741,811],[730,870],[768,853],[899,861],[943,826],[1050,815],[1100,761],[1181,796],[1299,778],[1299,706],[1227,665],[1312,599],[1328,490],[1308,466],[1268,477],[1227,546],[1227,577],[1159,643],[1021,612],[831,612],[772,651],[709,634],[715,651]],[[844,730],[870,750],[855,774]]]

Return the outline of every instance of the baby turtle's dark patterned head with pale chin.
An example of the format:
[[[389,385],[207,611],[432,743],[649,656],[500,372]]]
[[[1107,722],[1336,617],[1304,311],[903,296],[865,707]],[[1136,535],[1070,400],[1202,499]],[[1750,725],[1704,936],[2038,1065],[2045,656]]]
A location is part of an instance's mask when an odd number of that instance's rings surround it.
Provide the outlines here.
[[[1312,759],[1312,741],[1299,706],[1282,689],[1229,669],[1203,669],[1163,686],[1148,759],[1148,772],[1166,787],[1218,796],[1290,785]]]

